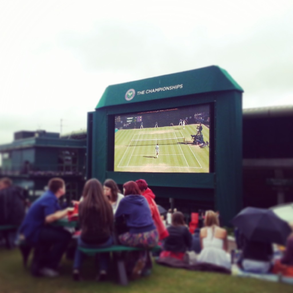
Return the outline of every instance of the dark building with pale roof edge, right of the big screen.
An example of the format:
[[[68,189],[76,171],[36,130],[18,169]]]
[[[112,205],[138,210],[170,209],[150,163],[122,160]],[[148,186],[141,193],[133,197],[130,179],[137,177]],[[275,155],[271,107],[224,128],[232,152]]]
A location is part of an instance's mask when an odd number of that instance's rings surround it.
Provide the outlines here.
[[[243,110],[244,206],[293,201],[293,106]]]

